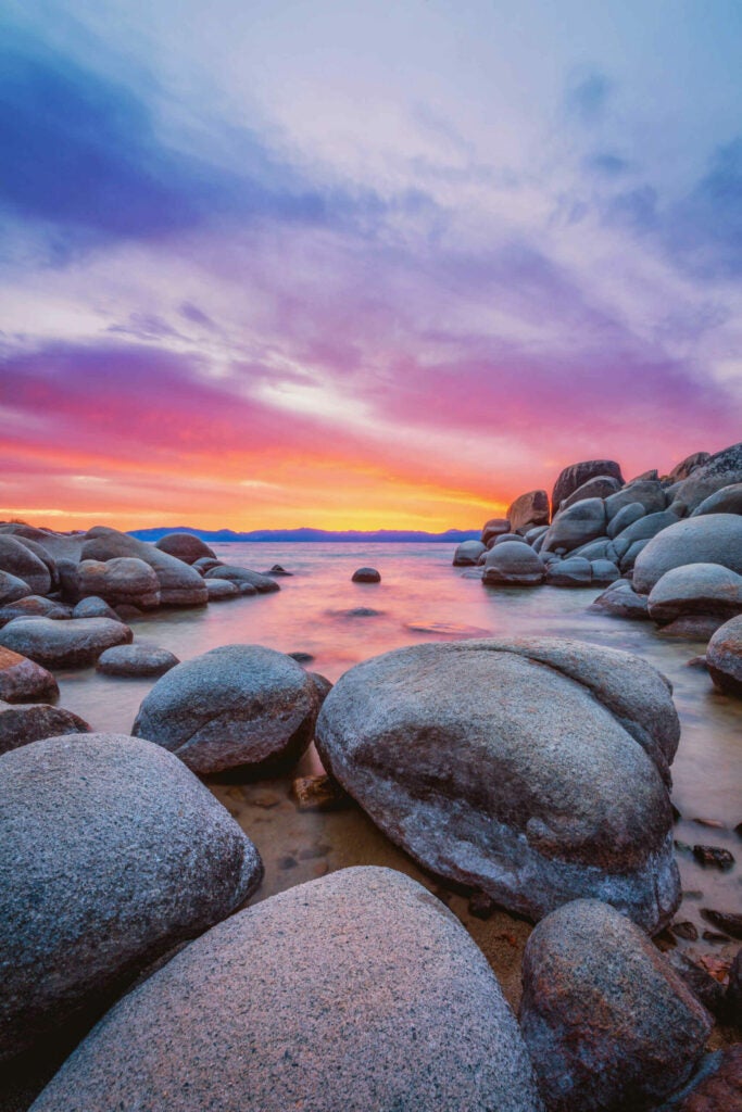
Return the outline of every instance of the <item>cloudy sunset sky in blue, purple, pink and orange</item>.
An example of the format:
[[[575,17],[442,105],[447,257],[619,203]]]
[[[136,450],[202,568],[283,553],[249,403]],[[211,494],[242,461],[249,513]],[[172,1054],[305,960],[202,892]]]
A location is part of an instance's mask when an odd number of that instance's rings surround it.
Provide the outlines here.
[[[4,0],[0,517],[473,528],[742,439],[738,0]]]

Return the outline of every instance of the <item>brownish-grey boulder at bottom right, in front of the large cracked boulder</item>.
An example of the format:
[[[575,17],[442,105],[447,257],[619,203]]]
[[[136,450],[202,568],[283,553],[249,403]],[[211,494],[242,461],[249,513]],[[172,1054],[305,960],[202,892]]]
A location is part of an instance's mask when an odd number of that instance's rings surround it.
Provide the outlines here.
[[[518,1017],[550,1112],[653,1108],[687,1081],[712,1027],[644,934],[597,900],[537,925]]]

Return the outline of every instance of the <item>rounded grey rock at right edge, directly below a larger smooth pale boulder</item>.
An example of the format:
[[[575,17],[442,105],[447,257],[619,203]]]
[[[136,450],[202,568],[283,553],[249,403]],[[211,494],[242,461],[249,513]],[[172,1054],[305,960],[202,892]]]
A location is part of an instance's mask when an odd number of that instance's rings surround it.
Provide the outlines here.
[[[673,567],[652,587],[647,608],[660,625],[689,614],[730,618],[742,613],[742,575],[721,564]]]

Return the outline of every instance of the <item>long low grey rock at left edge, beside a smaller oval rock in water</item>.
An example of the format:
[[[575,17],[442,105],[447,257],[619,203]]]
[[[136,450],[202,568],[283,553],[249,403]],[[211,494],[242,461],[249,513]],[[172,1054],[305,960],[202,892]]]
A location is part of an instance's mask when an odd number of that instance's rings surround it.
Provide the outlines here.
[[[16,618],[0,629],[0,645],[48,668],[85,668],[111,645],[130,642],[132,633],[110,618]]]

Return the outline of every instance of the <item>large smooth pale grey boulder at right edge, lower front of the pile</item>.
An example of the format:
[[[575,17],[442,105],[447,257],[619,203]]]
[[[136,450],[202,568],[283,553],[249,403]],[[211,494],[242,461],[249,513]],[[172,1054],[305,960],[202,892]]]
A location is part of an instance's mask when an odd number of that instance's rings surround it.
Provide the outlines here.
[[[636,558],[634,586],[649,595],[666,572],[684,564],[721,564],[742,575],[742,517],[706,514],[663,529]]]

